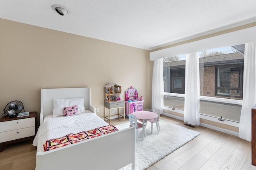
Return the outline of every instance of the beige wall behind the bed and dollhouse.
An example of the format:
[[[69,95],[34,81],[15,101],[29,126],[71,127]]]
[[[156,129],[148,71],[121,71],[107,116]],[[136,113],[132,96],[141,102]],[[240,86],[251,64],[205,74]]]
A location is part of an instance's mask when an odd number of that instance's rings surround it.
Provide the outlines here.
[[[151,109],[149,51],[0,19],[0,109],[20,100],[40,113],[40,89],[90,87],[104,117],[104,85],[130,86]]]

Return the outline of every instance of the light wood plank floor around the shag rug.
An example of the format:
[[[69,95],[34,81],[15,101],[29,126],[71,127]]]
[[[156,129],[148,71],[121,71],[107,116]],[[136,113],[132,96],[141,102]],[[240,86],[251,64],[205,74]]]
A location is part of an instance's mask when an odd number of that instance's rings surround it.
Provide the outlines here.
[[[147,170],[256,170],[251,165],[250,142],[201,126],[192,128],[184,125],[183,121],[164,115],[160,119],[201,134]],[[123,119],[111,120],[112,125],[121,123],[124,123]],[[7,145],[0,152],[0,170],[34,170],[35,155],[36,147],[30,141]]]

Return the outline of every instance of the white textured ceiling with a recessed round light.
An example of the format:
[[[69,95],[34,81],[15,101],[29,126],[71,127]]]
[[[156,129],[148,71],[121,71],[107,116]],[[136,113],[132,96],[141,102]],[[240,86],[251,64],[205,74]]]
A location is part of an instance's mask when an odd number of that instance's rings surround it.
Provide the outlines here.
[[[0,0],[0,18],[148,50],[255,22],[255,9],[256,0]]]

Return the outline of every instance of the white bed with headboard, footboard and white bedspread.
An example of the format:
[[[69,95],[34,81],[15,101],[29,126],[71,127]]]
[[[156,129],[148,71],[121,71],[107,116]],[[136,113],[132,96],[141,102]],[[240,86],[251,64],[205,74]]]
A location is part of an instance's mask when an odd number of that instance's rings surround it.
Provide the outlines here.
[[[84,98],[85,112],[66,117],[52,117],[53,99],[70,98]],[[74,167],[118,170],[128,164],[132,164],[134,170],[134,127],[44,152],[43,144],[48,139],[105,125],[108,124],[96,115],[95,107],[91,106],[90,88],[41,89],[40,127],[33,142],[33,145],[37,146],[36,170],[66,170]],[[49,127],[50,129],[47,129]]]

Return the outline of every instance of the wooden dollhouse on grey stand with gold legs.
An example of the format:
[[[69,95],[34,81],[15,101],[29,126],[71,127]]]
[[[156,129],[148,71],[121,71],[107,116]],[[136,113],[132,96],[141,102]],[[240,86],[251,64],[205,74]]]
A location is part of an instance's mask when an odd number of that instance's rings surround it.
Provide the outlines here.
[[[105,102],[104,102],[104,121],[106,119],[109,120],[112,116],[118,116],[118,118],[124,117],[125,115],[120,115],[120,108],[124,108],[124,114],[125,114],[125,103],[124,103],[124,91],[122,91],[122,86],[116,83],[109,83],[105,87]],[[109,115],[106,115],[106,108],[109,109]],[[115,115],[111,115],[112,109],[118,109],[118,113]]]

